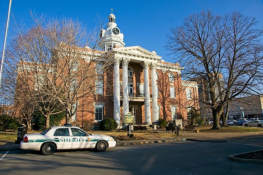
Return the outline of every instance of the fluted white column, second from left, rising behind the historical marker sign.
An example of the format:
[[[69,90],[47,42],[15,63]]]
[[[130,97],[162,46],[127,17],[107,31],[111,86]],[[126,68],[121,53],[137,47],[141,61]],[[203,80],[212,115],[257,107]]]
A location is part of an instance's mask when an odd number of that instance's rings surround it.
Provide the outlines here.
[[[122,60],[122,123],[124,124],[124,115],[129,113],[129,89],[128,89],[128,64],[129,59],[124,58]]]

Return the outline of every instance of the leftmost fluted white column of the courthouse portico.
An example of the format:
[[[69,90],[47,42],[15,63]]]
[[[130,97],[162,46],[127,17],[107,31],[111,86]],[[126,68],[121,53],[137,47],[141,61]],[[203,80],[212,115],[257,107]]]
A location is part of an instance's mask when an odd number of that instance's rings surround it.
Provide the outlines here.
[[[120,125],[120,59],[114,60],[114,102],[113,118]]]

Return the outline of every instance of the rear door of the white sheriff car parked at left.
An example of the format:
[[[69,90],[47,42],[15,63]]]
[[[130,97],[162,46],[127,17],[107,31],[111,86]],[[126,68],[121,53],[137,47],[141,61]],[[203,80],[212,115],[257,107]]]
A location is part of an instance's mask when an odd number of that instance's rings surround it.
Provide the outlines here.
[[[69,136],[68,128],[59,128],[54,132],[54,140],[58,144],[58,149],[71,149],[72,137]]]

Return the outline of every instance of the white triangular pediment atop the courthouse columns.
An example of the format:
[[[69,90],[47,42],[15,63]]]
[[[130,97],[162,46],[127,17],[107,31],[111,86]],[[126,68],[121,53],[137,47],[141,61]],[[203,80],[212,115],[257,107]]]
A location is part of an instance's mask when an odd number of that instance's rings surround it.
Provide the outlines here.
[[[135,55],[139,57],[152,58],[155,60],[159,60],[162,58],[161,56],[157,55],[156,52],[150,52],[147,49],[142,48],[140,46],[113,48],[113,52],[123,53],[123,54],[128,54],[128,55]]]

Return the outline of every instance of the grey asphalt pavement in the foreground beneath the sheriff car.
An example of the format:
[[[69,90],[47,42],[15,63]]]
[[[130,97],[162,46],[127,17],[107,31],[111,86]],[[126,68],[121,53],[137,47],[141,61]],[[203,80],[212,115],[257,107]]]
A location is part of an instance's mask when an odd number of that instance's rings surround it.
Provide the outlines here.
[[[3,174],[261,174],[261,164],[228,158],[255,150],[263,150],[263,137],[122,145],[102,153],[58,151],[50,156],[21,150],[0,152],[0,169]]]

